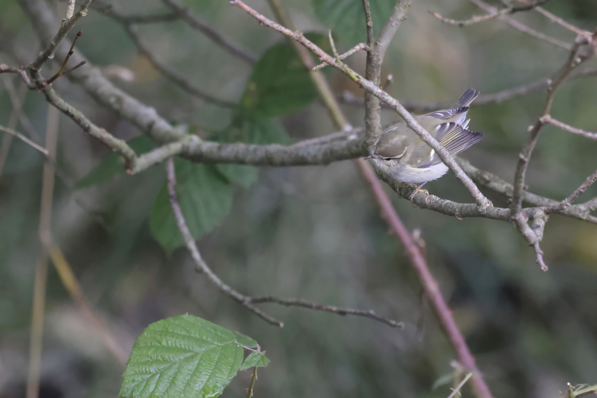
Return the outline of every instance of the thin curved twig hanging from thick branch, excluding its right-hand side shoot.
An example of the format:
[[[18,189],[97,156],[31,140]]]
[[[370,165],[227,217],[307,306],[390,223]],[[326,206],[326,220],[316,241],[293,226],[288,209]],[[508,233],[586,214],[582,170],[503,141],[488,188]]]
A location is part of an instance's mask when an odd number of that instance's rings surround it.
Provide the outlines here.
[[[216,288],[221,291],[223,294],[227,295],[228,297],[232,298],[242,306],[248,308],[248,310],[252,311],[254,314],[259,316],[261,319],[265,320],[270,325],[275,325],[282,327],[284,323],[267,315],[259,308],[253,306],[250,303],[250,298],[245,296],[244,294],[239,293],[235,289],[231,288],[229,285],[226,285],[205,263],[203,257],[201,257],[201,253],[199,253],[199,249],[195,243],[195,238],[191,235],[189,231],[189,227],[187,227],[186,220],[184,220],[184,215],[182,209],[180,208],[178,195],[176,193],[176,172],[174,171],[174,161],[173,159],[168,159],[166,162],[166,175],[168,179],[168,196],[170,198],[170,206],[172,206],[172,211],[174,213],[174,218],[176,219],[176,225],[179,227],[179,231],[184,239],[184,244],[187,246],[189,253],[193,259],[193,263],[195,264],[195,270],[205,274],[205,277],[210,281],[210,283]]]

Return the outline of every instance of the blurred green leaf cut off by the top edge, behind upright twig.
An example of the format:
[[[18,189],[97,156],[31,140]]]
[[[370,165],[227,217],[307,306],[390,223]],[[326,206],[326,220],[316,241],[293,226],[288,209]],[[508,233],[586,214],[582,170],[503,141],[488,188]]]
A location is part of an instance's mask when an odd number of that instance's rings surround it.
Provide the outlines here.
[[[344,43],[348,50],[367,40],[365,29],[365,11],[361,0],[311,0],[315,15],[332,29],[334,38]],[[392,13],[396,0],[371,0],[371,19],[373,30],[377,33]],[[338,48],[340,53],[342,50]]]

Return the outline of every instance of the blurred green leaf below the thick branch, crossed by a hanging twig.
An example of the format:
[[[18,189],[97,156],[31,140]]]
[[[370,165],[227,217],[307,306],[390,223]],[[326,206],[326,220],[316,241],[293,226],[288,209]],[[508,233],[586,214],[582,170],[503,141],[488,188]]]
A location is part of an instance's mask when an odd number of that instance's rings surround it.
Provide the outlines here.
[[[232,186],[214,165],[175,159],[176,193],[191,235],[198,239],[214,229],[230,211]],[[168,200],[166,184],[156,196],[149,215],[149,229],[165,251],[184,244]]]

